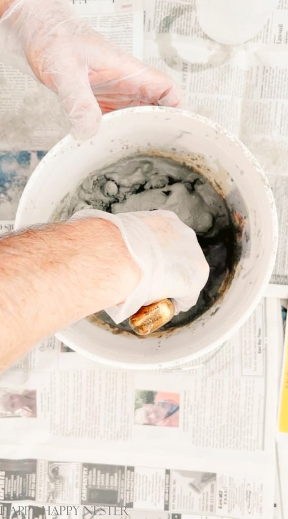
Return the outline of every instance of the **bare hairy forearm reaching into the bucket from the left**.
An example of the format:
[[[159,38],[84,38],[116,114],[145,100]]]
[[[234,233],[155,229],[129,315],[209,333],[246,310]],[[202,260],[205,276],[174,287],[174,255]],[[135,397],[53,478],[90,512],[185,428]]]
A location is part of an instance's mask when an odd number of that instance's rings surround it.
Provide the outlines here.
[[[139,282],[116,226],[100,218],[0,241],[0,370],[43,337],[121,303]]]

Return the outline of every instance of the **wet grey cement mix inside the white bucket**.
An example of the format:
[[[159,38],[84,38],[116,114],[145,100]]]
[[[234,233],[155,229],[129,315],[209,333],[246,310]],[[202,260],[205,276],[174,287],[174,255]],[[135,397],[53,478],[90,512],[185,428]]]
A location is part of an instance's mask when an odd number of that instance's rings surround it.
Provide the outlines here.
[[[210,276],[197,304],[163,327],[168,330],[193,321],[210,308],[232,276],[239,257],[237,226],[225,199],[191,167],[163,157],[135,156],[91,173],[65,197],[57,209],[62,218],[81,209],[113,214],[130,211],[174,211],[197,234],[210,266]],[[105,311],[97,317],[116,327]],[[131,332],[128,320],[117,328]],[[131,332],[132,333],[132,332]]]

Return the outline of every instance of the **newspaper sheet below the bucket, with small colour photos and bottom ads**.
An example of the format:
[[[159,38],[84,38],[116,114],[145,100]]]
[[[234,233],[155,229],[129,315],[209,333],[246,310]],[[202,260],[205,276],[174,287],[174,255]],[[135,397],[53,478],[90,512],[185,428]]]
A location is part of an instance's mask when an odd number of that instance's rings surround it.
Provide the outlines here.
[[[2,506],[271,517],[279,312],[278,299],[263,299],[213,359],[185,373],[113,370],[55,338],[36,346],[0,377]]]

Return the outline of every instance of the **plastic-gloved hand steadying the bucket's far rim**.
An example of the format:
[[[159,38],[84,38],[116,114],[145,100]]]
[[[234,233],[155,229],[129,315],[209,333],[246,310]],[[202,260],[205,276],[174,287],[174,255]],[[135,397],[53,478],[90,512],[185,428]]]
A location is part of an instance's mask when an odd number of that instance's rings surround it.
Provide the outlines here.
[[[66,0],[7,2],[0,19],[0,60],[58,94],[78,139],[97,132],[101,111],[180,106],[182,92],[170,77],[108,43]]]

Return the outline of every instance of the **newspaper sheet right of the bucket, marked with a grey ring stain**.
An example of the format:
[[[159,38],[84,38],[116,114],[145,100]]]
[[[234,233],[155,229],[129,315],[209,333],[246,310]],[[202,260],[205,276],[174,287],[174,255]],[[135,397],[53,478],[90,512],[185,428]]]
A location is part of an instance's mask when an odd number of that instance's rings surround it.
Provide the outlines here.
[[[280,240],[272,283],[288,284],[288,1],[251,42],[225,46],[197,22],[195,0],[144,0],[144,58],[175,78],[190,109],[239,136],[276,198]]]

